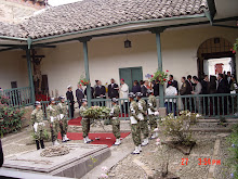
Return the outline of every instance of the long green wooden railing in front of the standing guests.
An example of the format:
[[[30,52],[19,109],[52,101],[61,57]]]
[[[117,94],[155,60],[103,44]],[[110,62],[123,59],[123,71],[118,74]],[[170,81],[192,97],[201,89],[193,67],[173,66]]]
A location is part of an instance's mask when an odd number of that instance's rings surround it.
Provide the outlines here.
[[[128,99],[118,99],[121,108],[120,119],[129,119],[130,102]],[[147,98],[144,98],[147,102]],[[111,107],[110,99],[92,99],[92,105]],[[157,97],[159,106],[159,97]],[[201,114],[204,118],[238,118],[238,94],[190,94],[164,97],[164,107],[168,113],[177,115],[180,111],[188,110]]]

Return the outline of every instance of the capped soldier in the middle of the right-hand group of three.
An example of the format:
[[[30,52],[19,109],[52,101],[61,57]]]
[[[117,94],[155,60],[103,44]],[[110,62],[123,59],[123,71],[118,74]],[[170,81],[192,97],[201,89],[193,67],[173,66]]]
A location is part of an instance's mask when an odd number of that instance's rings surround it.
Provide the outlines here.
[[[142,146],[145,146],[148,144],[148,136],[149,136],[148,123],[147,123],[147,105],[146,105],[145,100],[142,99],[142,97],[143,97],[142,92],[136,92],[135,95],[138,100],[138,102],[137,102],[137,104],[138,104],[137,117],[140,118],[140,126],[141,126],[142,133],[144,136],[144,141],[142,142]]]

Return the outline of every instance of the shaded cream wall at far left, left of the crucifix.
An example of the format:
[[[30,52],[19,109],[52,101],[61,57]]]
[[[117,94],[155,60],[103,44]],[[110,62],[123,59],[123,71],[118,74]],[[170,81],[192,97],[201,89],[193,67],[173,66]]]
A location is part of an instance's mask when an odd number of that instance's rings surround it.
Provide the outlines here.
[[[28,87],[28,72],[24,51],[5,51],[0,53],[0,87],[11,89],[11,81],[17,87]]]

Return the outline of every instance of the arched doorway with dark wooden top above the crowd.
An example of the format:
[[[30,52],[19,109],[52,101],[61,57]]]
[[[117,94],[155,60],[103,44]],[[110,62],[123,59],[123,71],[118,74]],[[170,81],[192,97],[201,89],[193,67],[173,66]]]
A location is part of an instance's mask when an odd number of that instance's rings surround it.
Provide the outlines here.
[[[206,40],[198,48],[198,76],[216,75],[230,72],[236,75],[235,54],[230,51],[233,44],[224,38],[215,37]]]

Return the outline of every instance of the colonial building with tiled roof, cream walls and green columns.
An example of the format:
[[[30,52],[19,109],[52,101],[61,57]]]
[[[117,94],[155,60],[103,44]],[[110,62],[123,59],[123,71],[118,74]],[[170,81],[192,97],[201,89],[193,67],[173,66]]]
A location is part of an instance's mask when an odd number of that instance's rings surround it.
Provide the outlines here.
[[[92,86],[124,78],[131,88],[157,69],[181,86],[182,76],[209,75],[208,60],[217,59],[228,59],[237,75],[230,51],[237,20],[237,0],[83,0],[48,8],[19,24],[0,23],[0,87],[30,87],[34,101],[34,93],[76,89],[82,74]]]

